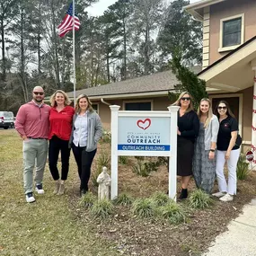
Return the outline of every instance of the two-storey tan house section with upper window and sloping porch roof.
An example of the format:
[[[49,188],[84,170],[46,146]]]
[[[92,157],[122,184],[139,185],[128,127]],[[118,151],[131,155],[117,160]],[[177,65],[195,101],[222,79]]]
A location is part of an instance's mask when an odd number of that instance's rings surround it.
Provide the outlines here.
[[[256,1],[203,0],[184,8],[203,23],[203,70],[216,106],[229,102],[243,145],[256,146]],[[253,117],[252,117],[253,115]]]

